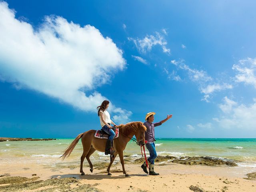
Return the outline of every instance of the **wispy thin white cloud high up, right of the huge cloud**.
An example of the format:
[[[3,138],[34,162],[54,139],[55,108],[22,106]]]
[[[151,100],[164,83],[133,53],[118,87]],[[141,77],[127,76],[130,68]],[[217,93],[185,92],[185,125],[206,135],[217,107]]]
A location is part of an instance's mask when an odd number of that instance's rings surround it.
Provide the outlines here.
[[[134,42],[136,48],[142,52],[146,53],[152,50],[152,47],[156,45],[160,45],[162,47],[163,52],[170,54],[170,49],[166,48],[166,40],[163,35],[156,32],[156,36],[146,35],[144,38],[128,38],[128,40]]]

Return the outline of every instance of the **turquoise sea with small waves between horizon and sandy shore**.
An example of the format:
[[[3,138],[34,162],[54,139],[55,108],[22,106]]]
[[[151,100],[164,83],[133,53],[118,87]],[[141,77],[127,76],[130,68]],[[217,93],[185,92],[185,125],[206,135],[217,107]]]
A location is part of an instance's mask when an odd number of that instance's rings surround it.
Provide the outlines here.
[[[38,160],[56,158],[69,146],[74,138],[58,138],[50,141],[0,142],[0,158],[33,157]],[[158,155],[171,156],[211,156],[243,161],[240,166],[256,167],[256,139],[225,138],[158,138],[156,139]],[[78,161],[82,155],[81,141],[70,155],[70,160]],[[147,152],[148,154],[148,152]],[[130,141],[124,155],[134,159],[141,156],[140,147]],[[102,152],[94,152],[92,161],[106,159]],[[3,158],[2,158],[3,159]]]

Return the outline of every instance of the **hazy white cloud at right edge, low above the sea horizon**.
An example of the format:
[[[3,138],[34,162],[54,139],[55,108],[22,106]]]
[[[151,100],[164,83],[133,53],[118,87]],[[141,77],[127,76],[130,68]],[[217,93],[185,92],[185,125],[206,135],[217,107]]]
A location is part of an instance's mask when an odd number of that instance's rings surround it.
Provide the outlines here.
[[[222,128],[232,130],[255,130],[256,126],[256,102],[246,106],[224,98],[224,104],[219,105],[224,114],[220,118],[214,118]]]

